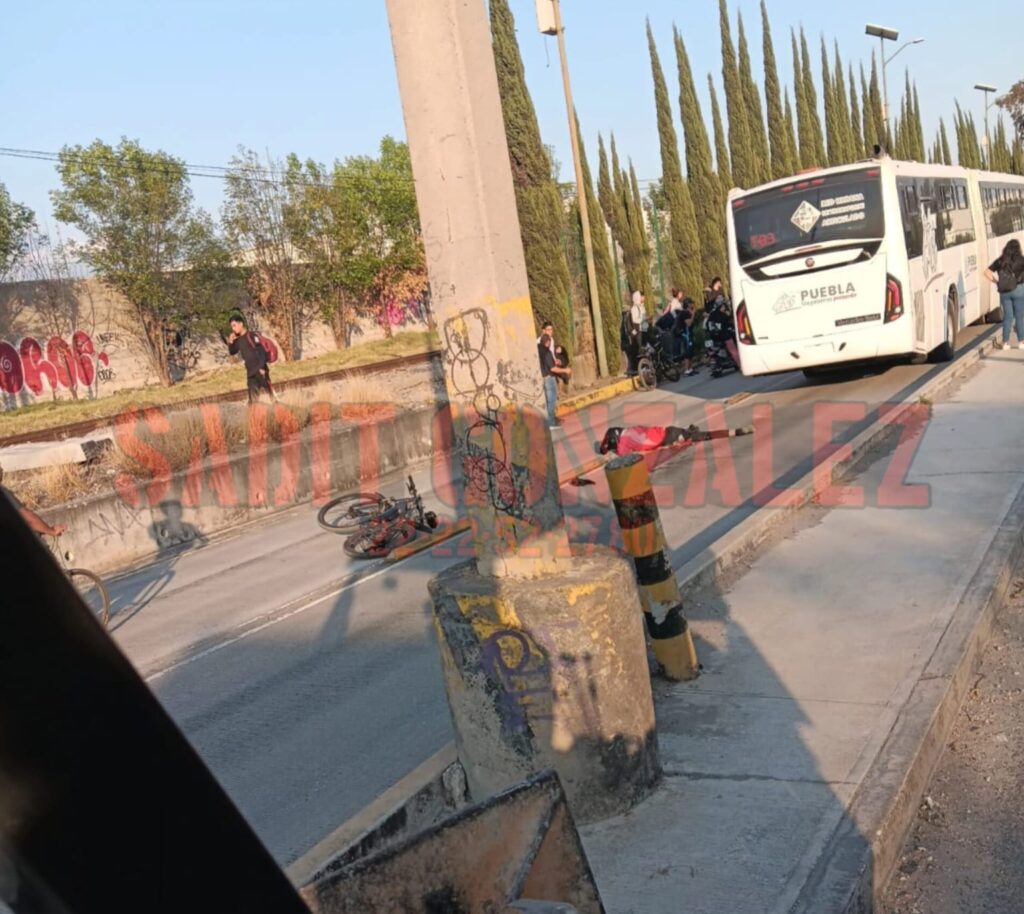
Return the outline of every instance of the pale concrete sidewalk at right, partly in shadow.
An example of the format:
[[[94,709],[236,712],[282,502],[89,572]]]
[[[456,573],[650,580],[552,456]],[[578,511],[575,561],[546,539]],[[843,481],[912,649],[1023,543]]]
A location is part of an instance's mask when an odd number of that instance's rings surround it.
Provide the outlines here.
[[[906,477],[927,507],[877,507],[884,458],[848,483],[867,507],[805,509],[687,606],[706,669],[656,690],[665,781],[582,829],[609,914],[827,914],[886,878],[883,823],[912,813],[907,779],[941,750],[932,724],[1019,553],[1022,382],[1024,353],[993,353],[935,405]]]

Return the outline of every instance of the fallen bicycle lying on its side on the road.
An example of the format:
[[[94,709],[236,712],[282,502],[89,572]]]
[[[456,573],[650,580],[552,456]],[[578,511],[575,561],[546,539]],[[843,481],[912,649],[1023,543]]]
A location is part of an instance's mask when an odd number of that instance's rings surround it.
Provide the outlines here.
[[[424,510],[412,476],[407,488],[404,498],[388,498],[380,492],[341,495],[319,510],[316,521],[332,533],[348,534],[344,549],[353,559],[384,558],[411,542],[418,532],[437,527],[437,515]]]

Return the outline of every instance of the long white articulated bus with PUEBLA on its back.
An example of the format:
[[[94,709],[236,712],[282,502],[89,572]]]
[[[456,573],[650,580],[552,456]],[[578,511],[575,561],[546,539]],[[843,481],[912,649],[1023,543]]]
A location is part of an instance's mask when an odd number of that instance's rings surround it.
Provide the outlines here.
[[[1024,228],[1024,178],[887,157],[731,190],[744,375],[953,357],[1001,317],[983,270]]]

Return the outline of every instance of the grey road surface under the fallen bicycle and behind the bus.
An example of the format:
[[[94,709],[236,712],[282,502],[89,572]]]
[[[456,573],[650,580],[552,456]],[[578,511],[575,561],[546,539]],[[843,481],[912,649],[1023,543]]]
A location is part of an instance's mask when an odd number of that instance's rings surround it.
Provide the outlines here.
[[[968,329],[962,351],[985,330]],[[724,407],[730,426],[757,409],[764,430],[770,407],[770,436],[707,447],[707,460],[683,452],[655,471],[678,567],[756,510],[751,496],[767,479],[781,486],[811,468],[815,422],[820,433],[822,416],[837,415],[828,403],[854,417],[862,407],[863,420],[835,427],[849,437],[935,371],[685,379],[567,423],[559,466],[592,460],[608,424],[707,426]],[[438,507],[430,468],[415,476]],[[573,535],[614,541],[603,476],[589,478],[562,490]],[[426,584],[460,546],[466,537],[396,565],[353,564],[307,506],[110,582],[114,637],[283,865],[451,739]]]

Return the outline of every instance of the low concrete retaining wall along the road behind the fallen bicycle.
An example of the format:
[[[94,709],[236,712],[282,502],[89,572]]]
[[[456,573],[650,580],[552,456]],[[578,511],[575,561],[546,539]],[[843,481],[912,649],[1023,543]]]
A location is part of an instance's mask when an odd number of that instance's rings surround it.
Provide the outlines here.
[[[401,411],[359,425],[313,423],[280,444],[250,445],[186,472],[116,486],[116,490],[46,512],[68,532],[61,550],[100,574],[170,550],[201,545],[213,533],[339,492],[375,489],[450,440],[446,411]],[[122,432],[121,434],[127,434]]]

